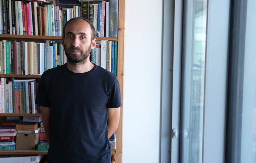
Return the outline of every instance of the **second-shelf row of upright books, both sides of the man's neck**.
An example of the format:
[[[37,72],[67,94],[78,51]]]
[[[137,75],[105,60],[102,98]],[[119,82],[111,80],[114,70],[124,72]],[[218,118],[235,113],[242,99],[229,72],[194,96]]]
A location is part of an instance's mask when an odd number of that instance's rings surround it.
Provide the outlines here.
[[[117,41],[97,41],[90,61],[117,75]],[[60,40],[0,41],[0,74],[41,75],[67,62]]]

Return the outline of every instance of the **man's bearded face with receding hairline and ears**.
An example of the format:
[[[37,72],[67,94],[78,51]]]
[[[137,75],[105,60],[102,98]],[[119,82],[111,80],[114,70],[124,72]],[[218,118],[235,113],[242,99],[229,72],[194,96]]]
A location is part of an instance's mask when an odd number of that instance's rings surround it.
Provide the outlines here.
[[[62,39],[65,54],[70,63],[83,63],[89,59],[91,49],[91,28],[84,20],[73,20],[65,28],[65,38]]]

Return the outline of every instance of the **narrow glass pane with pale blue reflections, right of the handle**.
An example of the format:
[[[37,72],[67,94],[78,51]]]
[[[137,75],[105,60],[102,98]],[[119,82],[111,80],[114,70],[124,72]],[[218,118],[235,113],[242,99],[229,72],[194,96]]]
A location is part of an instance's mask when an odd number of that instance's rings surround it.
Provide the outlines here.
[[[202,162],[207,0],[184,0],[181,163]]]

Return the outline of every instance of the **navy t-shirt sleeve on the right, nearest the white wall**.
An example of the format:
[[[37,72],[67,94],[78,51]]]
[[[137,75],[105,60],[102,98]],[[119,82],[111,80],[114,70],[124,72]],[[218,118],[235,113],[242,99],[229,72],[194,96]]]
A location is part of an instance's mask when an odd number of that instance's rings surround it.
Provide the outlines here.
[[[109,94],[109,99],[107,102],[107,108],[119,108],[122,106],[120,85],[117,78],[114,79],[114,82],[111,85],[108,94]]]

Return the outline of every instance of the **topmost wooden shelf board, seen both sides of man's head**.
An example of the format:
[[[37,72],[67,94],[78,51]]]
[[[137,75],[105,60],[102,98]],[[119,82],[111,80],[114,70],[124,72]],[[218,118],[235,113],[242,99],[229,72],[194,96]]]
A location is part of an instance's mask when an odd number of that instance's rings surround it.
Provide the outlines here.
[[[0,39],[40,39],[40,40],[61,40],[61,36],[35,36],[35,35],[18,35],[18,34],[0,34]],[[97,40],[117,41],[117,37],[96,37]]]

